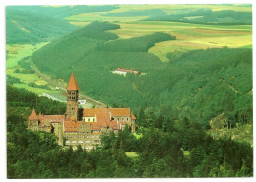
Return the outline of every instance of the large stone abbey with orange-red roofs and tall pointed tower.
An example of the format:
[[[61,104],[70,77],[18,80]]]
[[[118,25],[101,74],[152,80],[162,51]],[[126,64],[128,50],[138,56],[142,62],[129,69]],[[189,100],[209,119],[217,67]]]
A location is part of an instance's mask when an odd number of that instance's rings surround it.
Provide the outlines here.
[[[84,108],[79,109],[79,87],[74,73],[67,86],[67,109],[64,115],[36,114],[32,110],[28,128],[34,131],[54,133],[59,145],[81,145],[90,150],[101,145],[101,134],[117,133],[125,126],[135,132],[136,117],[130,108]]]

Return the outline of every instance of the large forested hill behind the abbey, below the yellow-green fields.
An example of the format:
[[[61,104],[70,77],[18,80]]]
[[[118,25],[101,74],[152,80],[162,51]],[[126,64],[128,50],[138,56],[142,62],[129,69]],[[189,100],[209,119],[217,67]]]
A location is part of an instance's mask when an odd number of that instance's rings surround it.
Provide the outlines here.
[[[168,63],[148,52],[165,33],[118,39],[107,30],[119,26],[94,22],[32,55],[42,72],[68,81],[74,71],[80,89],[110,105],[166,117],[190,117],[204,126],[224,113],[229,124],[252,121],[251,49],[214,48],[169,53]],[[112,74],[116,68],[146,75]]]

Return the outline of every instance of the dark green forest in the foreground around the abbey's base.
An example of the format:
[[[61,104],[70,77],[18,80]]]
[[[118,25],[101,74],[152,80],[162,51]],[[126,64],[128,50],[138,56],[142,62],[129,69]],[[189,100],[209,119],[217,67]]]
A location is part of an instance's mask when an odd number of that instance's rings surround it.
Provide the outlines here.
[[[26,120],[32,108],[63,114],[64,105],[9,85],[7,91],[8,178],[252,176],[249,144],[213,140],[196,121],[145,115],[143,110],[139,139],[126,127],[117,136],[103,134],[103,146],[91,152],[61,148],[53,134],[27,130]]]

